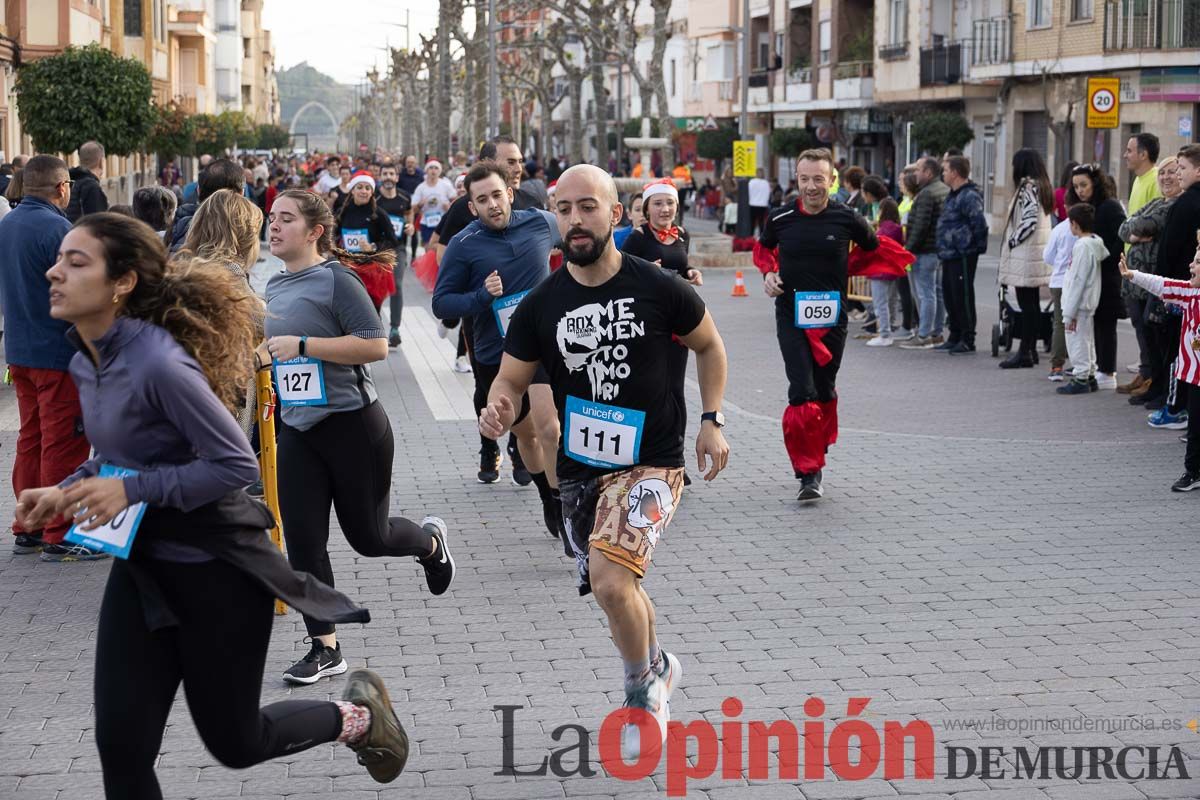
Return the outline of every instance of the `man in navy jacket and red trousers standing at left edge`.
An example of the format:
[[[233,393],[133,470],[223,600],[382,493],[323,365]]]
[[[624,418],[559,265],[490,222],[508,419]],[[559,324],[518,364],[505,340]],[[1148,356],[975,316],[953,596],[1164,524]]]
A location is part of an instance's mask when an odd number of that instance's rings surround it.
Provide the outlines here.
[[[54,156],[34,156],[25,164],[20,205],[0,219],[0,297],[4,302],[4,351],[17,390],[20,433],[12,465],[12,487],[54,486],[88,457],[79,392],[67,367],[74,348],[67,323],[50,318],[50,282],[46,271],[59,258],[71,230],[64,209],[71,203],[67,164]],[[40,534],[13,528],[14,553],[36,553],[56,561],[83,560],[84,548],[64,546],[68,524],[56,519]]]

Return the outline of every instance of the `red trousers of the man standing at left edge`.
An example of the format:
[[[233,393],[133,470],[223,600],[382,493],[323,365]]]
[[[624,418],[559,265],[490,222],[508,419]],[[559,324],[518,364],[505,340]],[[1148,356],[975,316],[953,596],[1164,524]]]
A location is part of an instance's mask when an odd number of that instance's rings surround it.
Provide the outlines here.
[[[12,462],[12,491],[55,486],[88,459],[86,437],[79,392],[70,373],[62,369],[8,367],[17,390],[20,433]],[[71,525],[59,517],[42,531],[47,542],[58,543]],[[24,533],[13,523],[14,533]]]

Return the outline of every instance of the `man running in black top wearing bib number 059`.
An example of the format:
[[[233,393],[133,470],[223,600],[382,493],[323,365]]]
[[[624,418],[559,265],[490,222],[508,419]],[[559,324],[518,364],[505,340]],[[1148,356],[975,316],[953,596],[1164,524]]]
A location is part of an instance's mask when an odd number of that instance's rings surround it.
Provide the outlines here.
[[[755,265],[775,297],[775,333],[787,371],[784,445],[800,480],[802,503],[824,494],[821,470],[838,440],[838,368],[846,345],[846,260],[851,242],[880,242],[854,210],[829,199],[828,150],[805,150],[796,163],[800,199],[774,210],[755,243]]]

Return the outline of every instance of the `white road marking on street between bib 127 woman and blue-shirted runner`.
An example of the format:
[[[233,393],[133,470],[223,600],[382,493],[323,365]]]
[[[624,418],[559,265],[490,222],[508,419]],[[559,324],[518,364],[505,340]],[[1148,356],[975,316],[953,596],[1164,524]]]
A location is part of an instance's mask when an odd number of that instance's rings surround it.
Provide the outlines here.
[[[474,420],[475,381],[469,373],[454,371],[455,348],[451,342],[438,338],[432,314],[419,306],[406,308],[400,331],[400,349],[433,419],[439,422]]]

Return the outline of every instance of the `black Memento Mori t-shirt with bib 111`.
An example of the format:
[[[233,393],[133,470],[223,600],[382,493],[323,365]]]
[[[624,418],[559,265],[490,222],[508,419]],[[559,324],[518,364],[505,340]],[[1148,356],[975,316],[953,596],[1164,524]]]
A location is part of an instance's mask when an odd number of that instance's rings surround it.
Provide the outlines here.
[[[629,254],[602,285],[582,285],[562,269],[521,301],[504,351],[550,374],[563,426],[559,477],[683,467],[686,413],[671,378],[679,347],[671,337],[703,318],[704,301],[677,273]]]

